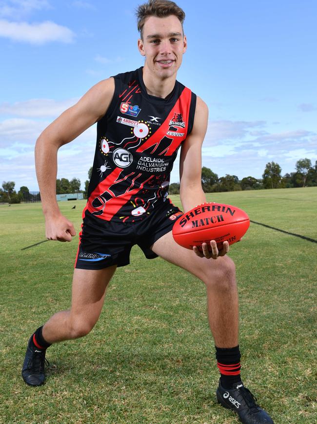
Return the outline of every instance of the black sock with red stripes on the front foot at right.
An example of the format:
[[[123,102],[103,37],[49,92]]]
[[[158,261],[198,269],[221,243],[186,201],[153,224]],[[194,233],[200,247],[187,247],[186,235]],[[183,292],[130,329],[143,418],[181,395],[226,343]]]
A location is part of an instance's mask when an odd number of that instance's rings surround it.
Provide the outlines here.
[[[225,389],[231,389],[241,381],[239,345],[232,348],[216,347],[217,366],[220,371],[220,383]]]

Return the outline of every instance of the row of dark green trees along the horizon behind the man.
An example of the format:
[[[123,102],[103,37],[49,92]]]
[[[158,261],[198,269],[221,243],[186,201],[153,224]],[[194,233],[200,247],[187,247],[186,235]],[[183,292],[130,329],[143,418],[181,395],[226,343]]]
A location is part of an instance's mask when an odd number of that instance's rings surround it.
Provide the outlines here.
[[[276,162],[268,162],[265,166],[262,179],[254,177],[245,177],[241,180],[236,175],[226,174],[218,178],[211,169],[203,166],[201,170],[201,184],[205,193],[221,191],[239,191],[239,190],[259,190],[266,188],[292,188],[317,186],[317,161],[314,166],[307,157],[299,159],[296,162],[296,170],[290,174],[281,175],[281,167]],[[91,178],[92,167],[88,171],[88,178]],[[73,178],[70,181],[67,178],[56,180],[56,193],[84,193],[87,198],[89,180],[85,181],[85,189],[80,190],[80,179]],[[170,184],[170,194],[179,193],[179,183]],[[16,192],[14,181],[3,181],[0,188],[0,202],[20,203],[21,201],[40,201],[37,193],[32,193],[25,186],[20,187]]]

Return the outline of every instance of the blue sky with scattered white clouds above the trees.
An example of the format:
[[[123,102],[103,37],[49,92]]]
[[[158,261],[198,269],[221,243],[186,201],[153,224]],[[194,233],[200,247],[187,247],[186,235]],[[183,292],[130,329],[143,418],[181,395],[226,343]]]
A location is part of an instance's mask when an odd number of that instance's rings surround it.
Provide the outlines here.
[[[110,4],[109,4],[110,3]],[[38,190],[40,132],[101,79],[142,66],[142,1],[0,0],[0,183]],[[317,160],[317,2],[178,2],[188,50],[178,80],[209,107],[203,165],[219,177],[282,175]],[[84,185],[95,126],[59,150],[58,178]],[[171,182],[177,182],[178,162]]]

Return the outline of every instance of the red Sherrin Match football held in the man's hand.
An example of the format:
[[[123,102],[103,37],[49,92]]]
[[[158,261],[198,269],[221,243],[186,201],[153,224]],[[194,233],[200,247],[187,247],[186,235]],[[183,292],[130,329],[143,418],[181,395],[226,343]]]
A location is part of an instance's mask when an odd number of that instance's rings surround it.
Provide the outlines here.
[[[246,233],[250,220],[241,209],[230,204],[203,203],[185,212],[173,226],[173,237],[178,245],[192,249],[211,240],[222,247],[236,243]]]

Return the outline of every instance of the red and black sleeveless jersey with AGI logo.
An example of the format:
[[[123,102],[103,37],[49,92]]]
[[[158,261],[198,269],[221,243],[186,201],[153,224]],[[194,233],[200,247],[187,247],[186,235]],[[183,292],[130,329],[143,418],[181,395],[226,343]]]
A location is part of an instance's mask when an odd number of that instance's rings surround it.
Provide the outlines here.
[[[147,93],[142,67],[118,74],[97,146],[87,209],[105,221],[134,222],[166,200],[178,148],[193,128],[196,95],[178,81],[165,99]]]

